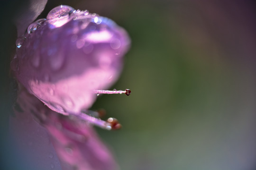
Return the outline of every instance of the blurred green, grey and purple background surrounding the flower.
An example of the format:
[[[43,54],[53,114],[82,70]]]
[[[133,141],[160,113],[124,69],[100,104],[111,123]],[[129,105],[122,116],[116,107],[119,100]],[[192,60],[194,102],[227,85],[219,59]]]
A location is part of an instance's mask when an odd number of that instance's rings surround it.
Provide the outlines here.
[[[1,1],[1,142],[8,134],[11,18]],[[49,0],[113,19],[132,40],[116,89],[92,109],[123,128],[99,136],[121,170],[256,170],[256,3],[253,0]],[[8,151],[1,152],[7,162]]]

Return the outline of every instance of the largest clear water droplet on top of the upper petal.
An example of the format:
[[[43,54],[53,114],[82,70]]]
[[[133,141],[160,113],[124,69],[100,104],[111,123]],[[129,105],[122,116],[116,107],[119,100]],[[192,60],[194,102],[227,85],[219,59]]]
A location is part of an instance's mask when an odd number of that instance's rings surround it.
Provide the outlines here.
[[[69,14],[72,13],[75,9],[67,6],[60,5],[58,7],[53,8],[47,15],[46,19],[56,19],[59,17],[69,17]]]

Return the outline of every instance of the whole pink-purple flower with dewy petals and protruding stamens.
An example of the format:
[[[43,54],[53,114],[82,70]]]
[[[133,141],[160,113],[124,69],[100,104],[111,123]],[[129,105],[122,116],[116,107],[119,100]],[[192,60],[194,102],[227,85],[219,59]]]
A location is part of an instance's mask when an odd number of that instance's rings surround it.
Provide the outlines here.
[[[91,124],[106,129],[119,124],[91,117],[88,109],[95,90],[117,80],[129,46],[127,33],[108,18],[59,6],[46,20],[29,25],[16,43],[11,68],[20,84],[10,127],[20,152],[27,152],[24,161],[32,167],[37,162],[37,170],[40,164],[42,169],[116,169]]]

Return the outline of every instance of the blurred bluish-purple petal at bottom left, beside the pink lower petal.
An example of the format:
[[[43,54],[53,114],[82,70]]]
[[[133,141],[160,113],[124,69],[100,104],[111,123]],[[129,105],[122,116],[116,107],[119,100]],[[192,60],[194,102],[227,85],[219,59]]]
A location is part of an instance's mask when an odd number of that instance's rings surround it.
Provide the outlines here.
[[[55,170],[61,170],[60,161],[46,128],[32,118],[31,112],[37,110],[34,101],[38,99],[35,100],[26,90],[19,92],[15,116],[9,119],[13,149],[18,160],[22,162],[22,168],[47,170],[54,167]]]

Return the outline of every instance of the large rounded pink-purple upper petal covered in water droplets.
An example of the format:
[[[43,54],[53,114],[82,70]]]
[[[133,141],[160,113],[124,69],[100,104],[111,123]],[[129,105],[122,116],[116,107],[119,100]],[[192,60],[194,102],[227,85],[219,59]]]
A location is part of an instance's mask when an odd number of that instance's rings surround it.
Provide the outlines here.
[[[25,35],[12,69],[30,93],[67,115],[90,108],[96,100],[94,90],[117,80],[130,41],[108,18],[66,9],[59,15],[53,10],[59,17],[51,11],[44,24]]]

